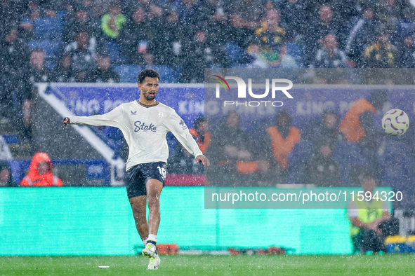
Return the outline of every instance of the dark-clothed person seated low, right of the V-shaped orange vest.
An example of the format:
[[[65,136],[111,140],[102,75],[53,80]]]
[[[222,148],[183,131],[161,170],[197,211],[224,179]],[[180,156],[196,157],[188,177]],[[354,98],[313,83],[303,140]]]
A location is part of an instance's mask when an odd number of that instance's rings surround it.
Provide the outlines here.
[[[304,182],[317,186],[341,186],[340,165],[333,158],[333,146],[329,139],[314,144],[315,153],[305,162]]]

